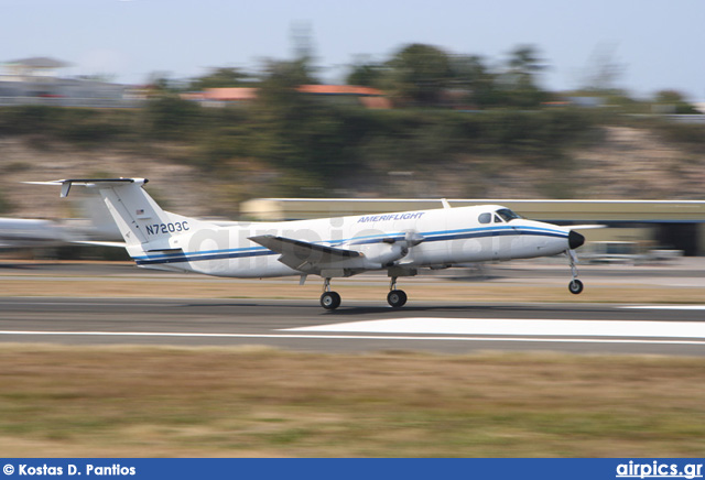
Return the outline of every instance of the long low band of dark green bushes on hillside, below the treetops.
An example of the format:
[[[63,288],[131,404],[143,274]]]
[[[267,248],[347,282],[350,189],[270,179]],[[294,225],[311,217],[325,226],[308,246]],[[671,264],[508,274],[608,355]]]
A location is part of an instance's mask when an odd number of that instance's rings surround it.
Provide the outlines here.
[[[577,110],[366,110],[301,95],[240,108],[205,109],[164,96],[142,110],[46,107],[0,109],[0,134],[32,135],[82,148],[135,148],[170,141],[189,146],[183,162],[228,175],[232,161],[253,160],[312,185],[335,188],[358,172],[416,170],[466,153],[561,160],[594,128]],[[285,193],[285,192],[283,192]]]

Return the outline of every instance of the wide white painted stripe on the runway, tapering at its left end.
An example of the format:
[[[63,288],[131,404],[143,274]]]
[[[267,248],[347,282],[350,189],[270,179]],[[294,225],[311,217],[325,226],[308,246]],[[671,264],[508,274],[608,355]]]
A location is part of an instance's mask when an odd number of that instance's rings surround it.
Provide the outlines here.
[[[705,323],[410,317],[316,325],[285,331],[703,339]]]

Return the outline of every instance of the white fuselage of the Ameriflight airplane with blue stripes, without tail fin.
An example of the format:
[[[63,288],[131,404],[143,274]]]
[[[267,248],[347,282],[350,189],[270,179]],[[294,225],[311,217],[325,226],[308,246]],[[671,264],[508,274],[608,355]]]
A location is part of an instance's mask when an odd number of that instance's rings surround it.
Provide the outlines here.
[[[442,268],[495,260],[546,257],[571,249],[567,228],[532,221],[492,205],[416,210],[382,215],[334,217],[283,222],[251,222],[234,227],[194,228],[188,222],[148,225],[154,240],[163,230],[180,231],[173,251],[135,252],[140,266],[188,270],[236,277],[321,274],[315,259],[302,255],[299,265],[279,261],[280,254],[250,239],[283,237],[361,253],[327,264],[328,274],[349,276],[366,270]],[[505,215],[505,218],[502,217]],[[574,247],[573,247],[574,248]],[[308,264],[306,261],[310,260]],[[295,266],[295,268],[293,268]]]

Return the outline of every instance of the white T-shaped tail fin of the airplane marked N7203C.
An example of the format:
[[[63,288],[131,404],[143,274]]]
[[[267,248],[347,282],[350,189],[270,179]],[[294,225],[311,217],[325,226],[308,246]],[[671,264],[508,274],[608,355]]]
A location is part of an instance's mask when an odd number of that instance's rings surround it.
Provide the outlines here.
[[[96,188],[118,225],[131,257],[181,250],[178,237],[203,222],[162,210],[142,188],[148,182],[147,178],[70,178],[36,183],[61,185],[62,197],[68,196],[73,185]]]

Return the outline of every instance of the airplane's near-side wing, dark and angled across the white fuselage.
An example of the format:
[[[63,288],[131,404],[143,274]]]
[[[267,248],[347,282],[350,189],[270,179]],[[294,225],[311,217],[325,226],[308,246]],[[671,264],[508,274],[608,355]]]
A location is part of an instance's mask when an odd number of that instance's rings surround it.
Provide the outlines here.
[[[281,253],[279,261],[299,271],[307,271],[311,266],[326,266],[343,260],[362,257],[362,253],[355,250],[336,249],[273,234],[250,237],[249,240]]]

